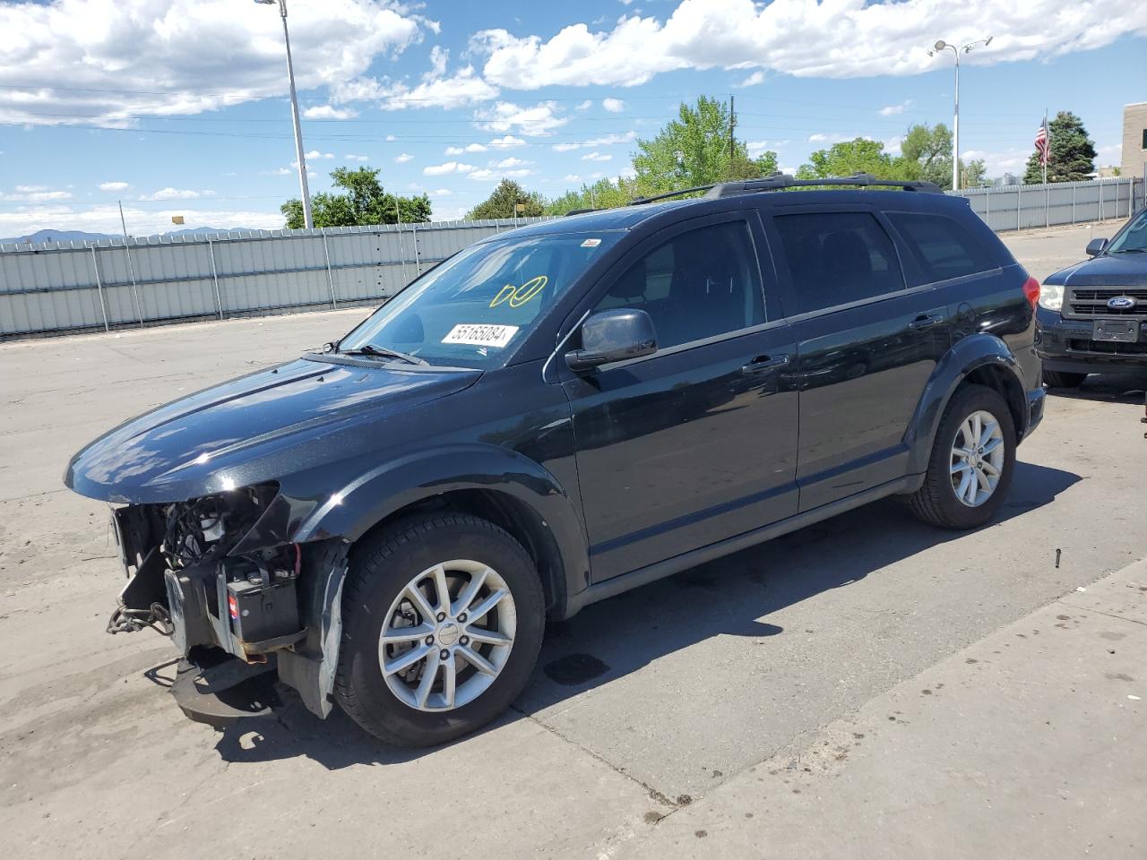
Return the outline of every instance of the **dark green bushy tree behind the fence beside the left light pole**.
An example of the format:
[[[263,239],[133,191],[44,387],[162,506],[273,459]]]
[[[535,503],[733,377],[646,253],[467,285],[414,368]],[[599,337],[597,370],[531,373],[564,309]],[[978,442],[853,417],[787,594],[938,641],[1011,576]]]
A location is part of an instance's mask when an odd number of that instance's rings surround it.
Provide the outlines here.
[[[372,224],[395,224],[401,214],[403,224],[430,220],[430,198],[398,197],[383,190],[379,170],[370,167],[335,167],[330,179],[335,188],[345,193],[322,191],[311,197],[311,214],[315,227],[353,227]],[[288,229],[305,226],[303,202],[297,198],[280,206],[287,218]]]

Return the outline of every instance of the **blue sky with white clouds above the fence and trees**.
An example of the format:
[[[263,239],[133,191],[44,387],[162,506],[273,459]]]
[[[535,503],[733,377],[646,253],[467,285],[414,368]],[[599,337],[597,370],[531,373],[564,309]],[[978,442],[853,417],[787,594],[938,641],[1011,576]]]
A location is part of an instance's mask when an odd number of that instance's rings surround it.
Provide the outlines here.
[[[629,169],[699,94],[736,99],[754,155],[795,167],[864,135],[896,150],[951,123],[961,151],[1022,169],[1045,108],[1117,164],[1147,97],[1147,3],[1125,0],[290,0],[312,193],[380,167],[457,218],[502,177],[547,196]],[[0,236],[40,228],[282,226],[297,196],[278,9],[250,0],[0,0]]]

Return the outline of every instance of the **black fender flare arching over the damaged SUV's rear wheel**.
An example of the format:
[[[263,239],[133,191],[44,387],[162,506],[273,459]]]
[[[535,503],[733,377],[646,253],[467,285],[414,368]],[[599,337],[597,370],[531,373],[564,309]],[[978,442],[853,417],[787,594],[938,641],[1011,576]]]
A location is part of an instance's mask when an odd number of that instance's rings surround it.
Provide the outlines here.
[[[928,469],[933,440],[939,428],[941,416],[952,394],[972,373],[983,367],[997,367],[1006,374],[1006,383],[1015,386],[1020,401],[1023,399],[1023,374],[1012,350],[996,335],[980,333],[957,341],[936,363],[928,384],[924,386],[916,411],[908,424],[904,441],[908,446],[908,474],[922,474]],[[1017,427],[1020,436],[1025,427]]]

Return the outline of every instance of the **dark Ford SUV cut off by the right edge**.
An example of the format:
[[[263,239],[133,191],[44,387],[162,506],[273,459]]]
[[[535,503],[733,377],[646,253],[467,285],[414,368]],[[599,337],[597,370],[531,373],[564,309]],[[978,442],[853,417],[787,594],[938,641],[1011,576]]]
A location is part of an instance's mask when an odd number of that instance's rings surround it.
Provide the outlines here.
[[[1036,350],[1052,386],[1147,368],[1147,209],[1110,242],[1089,242],[1087,256],[1044,281],[1040,292]]]

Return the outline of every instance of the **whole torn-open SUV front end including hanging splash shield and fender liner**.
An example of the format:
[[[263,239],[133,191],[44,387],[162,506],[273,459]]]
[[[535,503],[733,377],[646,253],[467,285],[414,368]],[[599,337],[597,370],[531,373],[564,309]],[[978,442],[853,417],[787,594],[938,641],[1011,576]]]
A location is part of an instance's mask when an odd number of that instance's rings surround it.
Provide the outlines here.
[[[108,632],[171,636],[171,691],[194,720],[266,713],[275,675],[317,716],[331,710],[348,545],[291,542],[291,518],[274,483],[112,513],[128,580]]]

